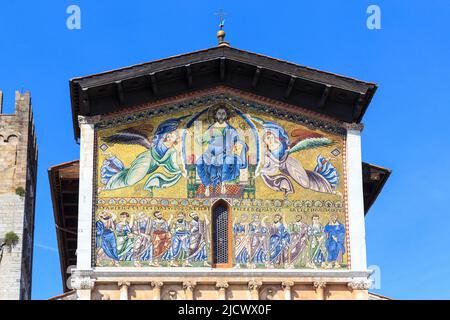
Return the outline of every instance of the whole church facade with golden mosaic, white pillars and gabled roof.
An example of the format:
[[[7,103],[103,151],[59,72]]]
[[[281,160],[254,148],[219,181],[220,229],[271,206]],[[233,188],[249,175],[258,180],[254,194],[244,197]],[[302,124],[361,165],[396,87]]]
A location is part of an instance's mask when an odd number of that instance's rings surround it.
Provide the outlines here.
[[[222,37],[70,87],[80,160],[49,169],[61,299],[369,298],[375,84]]]

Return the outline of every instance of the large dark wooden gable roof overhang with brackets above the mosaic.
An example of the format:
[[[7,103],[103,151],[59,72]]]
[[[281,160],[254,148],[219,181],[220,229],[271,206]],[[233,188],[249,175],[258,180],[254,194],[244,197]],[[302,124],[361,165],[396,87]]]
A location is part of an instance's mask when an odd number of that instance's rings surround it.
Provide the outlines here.
[[[70,80],[75,138],[79,115],[120,111],[217,85],[310,109],[345,122],[361,119],[377,89],[368,83],[231,47],[215,47]]]

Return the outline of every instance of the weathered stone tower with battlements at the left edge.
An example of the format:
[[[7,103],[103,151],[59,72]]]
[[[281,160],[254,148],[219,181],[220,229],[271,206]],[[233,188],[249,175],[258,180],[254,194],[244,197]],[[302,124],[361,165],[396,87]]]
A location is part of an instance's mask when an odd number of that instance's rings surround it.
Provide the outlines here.
[[[16,92],[15,113],[0,114],[0,239],[13,231],[19,243],[3,250],[0,299],[31,297],[36,167],[30,94]]]

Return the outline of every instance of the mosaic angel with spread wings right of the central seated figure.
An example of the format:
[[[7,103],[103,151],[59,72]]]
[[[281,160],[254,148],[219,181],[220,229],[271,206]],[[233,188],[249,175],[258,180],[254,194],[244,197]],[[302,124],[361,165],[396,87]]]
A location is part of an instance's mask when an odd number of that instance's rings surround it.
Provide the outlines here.
[[[295,129],[297,138],[291,144],[288,133],[276,122],[253,117],[264,130],[264,163],[259,170],[264,183],[274,191],[284,192],[285,197],[295,192],[292,178],[301,187],[317,192],[335,193],[339,175],[331,162],[319,155],[314,170],[305,170],[302,163],[292,154],[333,144],[330,139],[304,129]]]

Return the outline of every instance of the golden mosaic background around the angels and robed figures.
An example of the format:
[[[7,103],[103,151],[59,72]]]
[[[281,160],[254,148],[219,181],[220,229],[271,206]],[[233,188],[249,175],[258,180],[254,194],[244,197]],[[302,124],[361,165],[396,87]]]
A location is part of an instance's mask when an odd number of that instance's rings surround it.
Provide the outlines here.
[[[195,108],[191,108],[189,110],[183,110],[177,112],[175,114],[164,114],[161,116],[155,116],[151,119],[141,120],[137,122],[127,123],[116,127],[99,129],[97,131],[97,190],[102,187],[101,181],[101,167],[105,159],[110,157],[111,155],[119,158],[125,167],[129,167],[130,164],[136,159],[136,157],[147,149],[140,145],[130,145],[130,144],[120,144],[115,143],[111,144],[105,141],[105,137],[112,136],[120,131],[126,130],[128,128],[133,127],[147,127],[148,128],[148,136],[151,138],[152,134],[154,134],[158,125],[165,120],[170,118],[178,118],[182,116],[193,115],[196,112],[200,112],[204,110],[208,105],[197,106]],[[320,193],[312,190],[307,190],[302,188],[300,185],[296,184],[291,178],[291,182],[294,185],[295,193],[288,195],[287,198],[284,197],[282,192],[275,192],[271,190],[266,184],[262,181],[261,177],[256,177],[255,183],[255,199],[227,199],[230,202],[232,208],[232,221],[239,220],[242,215],[247,215],[249,220],[251,220],[252,215],[258,214],[260,219],[265,218],[266,221],[270,222],[273,219],[274,214],[280,213],[283,216],[283,221],[286,224],[286,227],[289,227],[291,223],[293,223],[298,215],[301,215],[303,221],[305,223],[309,223],[312,219],[313,214],[319,215],[320,223],[325,226],[329,220],[332,213],[336,213],[338,216],[338,220],[345,226],[346,234],[348,234],[348,228],[346,223],[346,214],[345,214],[345,182],[344,182],[344,156],[345,156],[345,138],[340,135],[331,134],[324,131],[312,130],[311,128],[307,128],[305,126],[285,121],[282,119],[274,119],[270,116],[267,116],[261,112],[256,112],[250,109],[240,109],[244,114],[249,116],[256,116],[264,121],[274,121],[281,125],[286,132],[290,133],[295,129],[303,129],[306,131],[313,132],[314,134],[319,134],[324,138],[328,138],[332,140],[334,143],[330,146],[318,147],[309,150],[302,150],[300,152],[294,153],[291,156],[301,162],[303,167],[307,170],[313,170],[316,166],[316,159],[319,154],[323,155],[325,158],[331,159],[332,164],[336,168],[339,173],[340,182],[337,186],[335,193]],[[203,129],[205,130],[210,123],[208,122],[208,116],[204,115],[200,117],[200,120],[204,122]],[[183,127],[185,121],[181,123],[180,127]],[[248,127],[245,121],[234,114],[233,118],[229,119],[229,124],[235,128]],[[258,124],[255,124],[256,127]],[[193,128],[189,129],[190,132],[193,131]],[[292,140],[295,140],[291,137]],[[261,141],[261,139],[260,139]],[[255,141],[246,141],[249,145],[249,150],[254,150]],[[108,149],[106,151],[102,151],[100,147],[102,145],[107,145]],[[177,150],[177,159],[179,166],[182,167],[182,163],[180,161],[182,157],[181,150],[182,142],[178,142],[176,144]],[[339,150],[338,155],[333,155],[333,150]],[[203,151],[204,151],[203,147]],[[240,151],[237,150],[238,152]],[[263,161],[263,155],[261,153],[261,161]],[[164,173],[164,169],[158,168],[155,173]],[[191,211],[198,211],[201,215],[207,214],[209,216],[209,221],[211,221],[211,213],[210,213],[210,205],[213,201],[211,199],[204,199],[203,197],[199,198],[200,201],[198,204],[192,205],[192,200],[189,199],[188,202],[182,203],[182,200],[188,200],[188,185],[187,180],[183,176],[178,181],[178,183],[172,187],[167,189],[155,189],[153,191],[153,196],[150,196],[149,191],[144,190],[146,178],[142,181],[138,182],[135,185],[121,188],[117,190],[101,190],[97,192],[97,207],[96,207],[96,219],[98,219],[98,214],[104,210],[113,211],[116,214],[119,214],[122,211],[126,211],[131,215],[134,215],[138,212],[145,212],[147,216],[151,217],[151,214],[155,210],[160,210],[163,213],[163,216],[168,219],[171,214],[176,215],[177,212],[184,212],[188,214]],[[224,197],[226,198],[226,197]],[[134,200],[133,200],[134,199]],[[139,201],[145,200],[146,203],[142,204]],[[151,199],[157,199],[158,204],[151,204]],[[168,203],[161,205],[161,201],[166,199]],[[205,200],[209,200],[204,204]],[[175,201],[175,202],[174,202]],[[188,218],[189,220],[189,218]],[[211,223],[209,225],[208,235],[209,239],[211,239]],[[347,238],[347,237],[346,237]],[[235,241],[235,240],[233,240]],[[233,242],[234,243],[234,242]],[[347,249],[347,239],[345,240],[345,247]],[[208,244],[208,262],[211,263],[211,248],[210,244]],[[233,261],[235,263],[235,257],[233,254]],[[120,262],[121,265],[131,265],[130,261]],[[97,260],[97,265],[105,266],[111,265],[108,259],[106,260]],[[196,265],[201,266],[201,265]],[[264,267],[264,266],[258,266]],[[280,266],[276,266],[280,267]],[[281,266],[285,267],[285,266]],[[301,267],[301,266],[295,266]],[[320,268],[321,266],[318,266]],[[342,263],[340,267],[346,268],[347,265],[347,252],[343,256]]]

